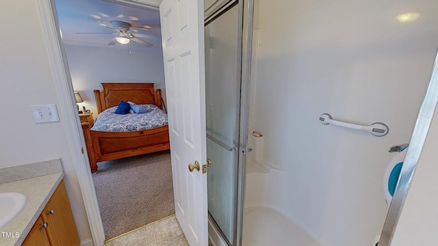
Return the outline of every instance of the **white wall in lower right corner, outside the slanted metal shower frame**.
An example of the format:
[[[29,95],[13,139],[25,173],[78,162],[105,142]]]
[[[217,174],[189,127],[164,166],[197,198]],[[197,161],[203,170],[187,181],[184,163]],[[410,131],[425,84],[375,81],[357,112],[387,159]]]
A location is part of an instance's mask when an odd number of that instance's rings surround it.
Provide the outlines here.
[[[411,187],[400,213],[391,245],[438,245],[438,113],[417,163]]]

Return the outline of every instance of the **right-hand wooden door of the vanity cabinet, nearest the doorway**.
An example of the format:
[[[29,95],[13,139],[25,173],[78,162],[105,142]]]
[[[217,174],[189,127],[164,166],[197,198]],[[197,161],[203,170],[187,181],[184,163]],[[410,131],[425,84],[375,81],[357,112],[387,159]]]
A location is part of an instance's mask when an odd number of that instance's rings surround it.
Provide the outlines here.
[[[49,223],[46,230],[51,245],[79,245],[79,236],[68,202],[64,180],[53,193],[41,217],[44,222]]]

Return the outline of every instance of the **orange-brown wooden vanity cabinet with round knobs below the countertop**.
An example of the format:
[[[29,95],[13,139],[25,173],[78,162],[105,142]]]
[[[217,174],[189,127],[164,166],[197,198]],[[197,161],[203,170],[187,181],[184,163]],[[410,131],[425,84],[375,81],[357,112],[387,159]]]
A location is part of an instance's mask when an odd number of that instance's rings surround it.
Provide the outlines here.
[[[48,239],[48,243],[44,243],[41,239],[44,234]],[[23,245],[79,245],[79,236],[68,202],[64,180],[61,181],[55,193],[47,202]]]

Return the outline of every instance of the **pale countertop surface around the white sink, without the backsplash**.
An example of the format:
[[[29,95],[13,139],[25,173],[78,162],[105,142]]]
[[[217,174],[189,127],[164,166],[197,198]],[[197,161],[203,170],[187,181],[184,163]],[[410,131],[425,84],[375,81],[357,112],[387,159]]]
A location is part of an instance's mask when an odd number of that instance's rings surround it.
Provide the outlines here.
[[[27,204],[23,211],[8,225],[0,229],[0,245],[12,246],[23,243],[62,178],[64,178],[64,172],[57,172],[0,184],[0,193],[18,192],[27,197]],[[13,236],[18,232],[20,236],[8,238],[2,232],[12,232]]]

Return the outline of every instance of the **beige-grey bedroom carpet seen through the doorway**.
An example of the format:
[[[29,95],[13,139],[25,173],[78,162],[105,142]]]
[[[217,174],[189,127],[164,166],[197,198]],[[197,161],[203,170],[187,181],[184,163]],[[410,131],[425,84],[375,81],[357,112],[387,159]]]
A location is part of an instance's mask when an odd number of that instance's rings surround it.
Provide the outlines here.
[[[98,166],[92,176],[106,239],[175,213],[168,150]]]

